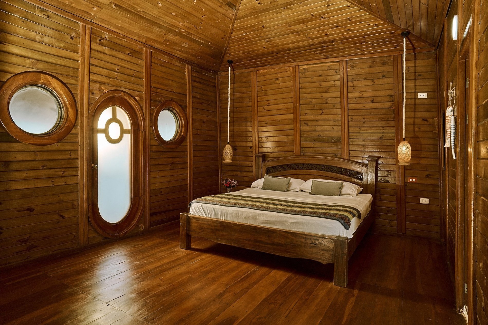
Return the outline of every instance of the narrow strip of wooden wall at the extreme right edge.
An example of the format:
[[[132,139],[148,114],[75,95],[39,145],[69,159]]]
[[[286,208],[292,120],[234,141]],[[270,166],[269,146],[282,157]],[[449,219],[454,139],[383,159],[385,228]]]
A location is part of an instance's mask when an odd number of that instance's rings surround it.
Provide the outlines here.
[[[476,317],[478,324],[488,324],[488,2],[477,3],[479,17],[479,47],[477,62],[477,139],[475,149],[475,279],[476,279]],[[476,23],[478,17],[474,18]]]

